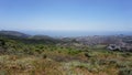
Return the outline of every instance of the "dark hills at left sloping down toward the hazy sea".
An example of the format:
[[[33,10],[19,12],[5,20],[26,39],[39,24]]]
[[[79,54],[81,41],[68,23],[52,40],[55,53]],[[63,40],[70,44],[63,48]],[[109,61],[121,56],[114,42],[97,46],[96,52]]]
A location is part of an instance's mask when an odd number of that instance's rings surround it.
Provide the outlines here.
[[[30,35],[18,31],[0,31],[0,38],[16,40],[24,43],[48,43],[55,44],[58,39],[48,35]]]

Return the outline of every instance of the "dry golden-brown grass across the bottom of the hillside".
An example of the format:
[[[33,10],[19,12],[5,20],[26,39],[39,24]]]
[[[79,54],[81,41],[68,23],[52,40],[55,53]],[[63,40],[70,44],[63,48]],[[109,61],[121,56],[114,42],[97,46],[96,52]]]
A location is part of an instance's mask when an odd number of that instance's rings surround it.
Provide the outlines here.
[[[127,67],[132,68],[131,53],[90,51],[70,55],[45,51],[40,55],[0,55],[0,75],[118,75]]]

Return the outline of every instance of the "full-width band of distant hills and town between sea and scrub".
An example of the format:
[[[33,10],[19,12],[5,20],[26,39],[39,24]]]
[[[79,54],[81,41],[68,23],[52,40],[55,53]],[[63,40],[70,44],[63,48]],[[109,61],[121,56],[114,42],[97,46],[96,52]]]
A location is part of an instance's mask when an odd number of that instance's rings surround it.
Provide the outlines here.
[[[91,46],[116,44],[132,49],[132,35],[91,35],[75,38],[52,38],[48,35],[29,35],[18,31],[0,31],[0,36],[19,40],[25,43],[48,43],[62,46]]]

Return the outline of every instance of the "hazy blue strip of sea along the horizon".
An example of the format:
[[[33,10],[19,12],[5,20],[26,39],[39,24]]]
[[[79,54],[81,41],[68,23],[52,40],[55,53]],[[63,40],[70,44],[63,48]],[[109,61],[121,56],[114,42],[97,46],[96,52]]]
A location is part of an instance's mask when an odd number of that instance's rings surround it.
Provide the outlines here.
[[[50,35],[50,36],[91,36],[91,35],[131,35],[131,31],[20,31],[30,35]]]

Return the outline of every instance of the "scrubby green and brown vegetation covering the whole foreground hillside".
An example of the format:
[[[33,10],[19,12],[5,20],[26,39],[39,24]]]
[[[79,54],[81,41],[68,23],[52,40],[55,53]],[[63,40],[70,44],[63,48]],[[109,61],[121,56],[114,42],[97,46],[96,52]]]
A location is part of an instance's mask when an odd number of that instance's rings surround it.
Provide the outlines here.
[[[0,36],[0,75],[132,75],[132,53]]]

